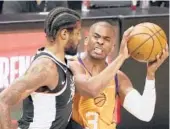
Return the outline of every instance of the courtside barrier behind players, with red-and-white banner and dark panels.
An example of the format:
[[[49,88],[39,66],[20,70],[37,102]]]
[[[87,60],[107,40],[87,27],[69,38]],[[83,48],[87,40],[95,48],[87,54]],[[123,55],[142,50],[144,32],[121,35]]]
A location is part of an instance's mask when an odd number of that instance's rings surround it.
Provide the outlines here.
[[[153,12],[150,10],[147,15],[136,12],[137,15],[122,12],[121,10],[100,9],[91,10],[89,14],[83,16],[84,36],[87,34],[89,26],[97,21],[107,20],[115,26],[117,32],[115,43],[119,48],[119,42],[123,31],[131,25],[140,22],[153,22],[160,25],[169,37],[169,13],[162,12],[157,8]],[[166,12],[166,13],[165,13]],[[22,75],[31,63],[35,51],[44,45],[45,34],[43,33],[43,21],[45,15],[28,14],[20,16],[0,16],[6,19],[0,22],[0,87],[7,87],[15,78]],[[30,19],[32,20],[30,20]],[[20,19],[16,22],[16,19]],[[29,19],[29,20],[28,20]],[[13,20],[13,21],[12,21]],[[10,21],[10,22],[9,22]],[[169,39],[168,39],[169,43]],[[83,42],[79,47],[79,52],[83,51]],[[113,53],[113,59],[117,55],[118,49]],[[139,63],[133,59],[128,59],[121,68],[131,79],[134,87],[143,91],[146,64]],[[122,109],[121,124],[118,129],[168,129],[169,128],[169,60],[167,60],[156,74],[157,102],[153,119],[149,122],[142,122]],[[12,110],[12,118],[19,119],[22,115],[22,106],[18,104]]]

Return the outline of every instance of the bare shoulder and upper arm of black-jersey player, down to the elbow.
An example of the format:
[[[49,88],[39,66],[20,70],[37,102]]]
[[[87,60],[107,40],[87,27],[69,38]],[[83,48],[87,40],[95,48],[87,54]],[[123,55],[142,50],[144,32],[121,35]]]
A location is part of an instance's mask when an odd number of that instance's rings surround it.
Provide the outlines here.
[[[0,94],[1,102],[13,105],[41,86],[56,85],[58,73],[54,69],[56,69],[55,63],[50,59],[40,58],[35,60],[23,76],[2,91]]]

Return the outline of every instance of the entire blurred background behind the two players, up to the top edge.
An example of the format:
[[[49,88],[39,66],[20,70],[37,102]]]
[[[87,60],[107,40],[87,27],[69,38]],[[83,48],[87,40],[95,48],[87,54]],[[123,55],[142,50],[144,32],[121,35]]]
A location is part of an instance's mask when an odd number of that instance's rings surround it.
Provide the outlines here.
[[[82,16],[83,38],[91,24],[105,20],[116,31],[116,49],[110,53],[111,60],[117,56],[123,32],[141,22],[153,22],[166,33],[169,43],[169,1],[0,1],[0,91],[21,76],[29,67],[36,50],[45,43],[44,19],[55,7],[68,7]],[[83,39],[79,52],[84,51]],[[142,93],[146,75],[146,64],[128,59],[124,71],[135,88]],[[122,108],[118,129],[168,129],[169,128],[169,60],[157,72],[157,103],[153,119],[139,121]],[[13,107],[13,120],[22,115],[22,104]]]

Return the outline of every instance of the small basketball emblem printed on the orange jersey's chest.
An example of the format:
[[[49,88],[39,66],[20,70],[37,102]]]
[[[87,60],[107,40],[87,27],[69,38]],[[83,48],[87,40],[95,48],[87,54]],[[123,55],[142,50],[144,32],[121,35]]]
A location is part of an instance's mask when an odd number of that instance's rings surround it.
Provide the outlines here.
[[[96,98],[94,98],[94,104],[98,107],[102,107],[106,102],[106,95],[100,93]]]

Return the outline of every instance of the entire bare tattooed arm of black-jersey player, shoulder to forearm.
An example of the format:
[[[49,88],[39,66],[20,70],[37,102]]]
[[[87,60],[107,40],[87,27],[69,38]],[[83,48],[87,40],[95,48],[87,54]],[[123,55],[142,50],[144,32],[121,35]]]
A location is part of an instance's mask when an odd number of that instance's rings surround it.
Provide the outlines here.
[[[54,63],[49,59],[35,61],[27,72],[0,93],[0,125],[11,129],[10,106],[26,98],[31,92],[50,82]],[[56,66],[55,66],[56,67]],[[53,74],[52,74],[53,75]]]

